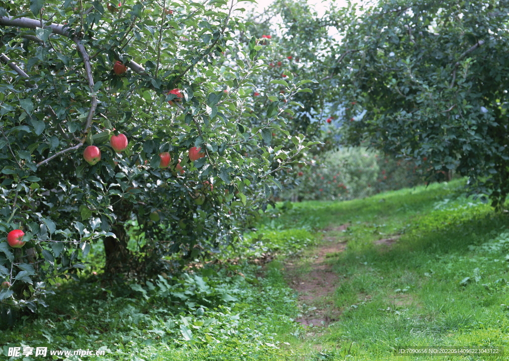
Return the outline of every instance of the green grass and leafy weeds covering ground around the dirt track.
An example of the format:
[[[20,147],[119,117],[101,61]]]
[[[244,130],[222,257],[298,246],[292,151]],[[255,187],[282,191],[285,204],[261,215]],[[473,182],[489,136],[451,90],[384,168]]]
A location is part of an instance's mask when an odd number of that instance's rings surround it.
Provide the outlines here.
[[[9,347],[104,349],[69,360],[501,360],[486,354],[400,354],[407,348],[509,352],[509,219],[462,196],[461,179],[346,202],[272,209],[223,263],[139,285],[97,276],[63,282],[49,307],[3,332]],[[346,230],[338,226],[348,224]],[[326,328],[293,321],[302,308],[285,283],[284,257],[299,262],[320,234],[347,242],[328,256],[340,277]],[[376,245],[375,240],[397,238]],[[307,250],[304,250],[307,247]],[[245,262],[279,255],[260,266]],[[303,267],[306,257],[300,258]],[[305,272],[305,268],[302,268]],[[262,277],[263,276],[263,277]],[[325,303],[327,300],[323,300]],[[62,358],[54,358],[62,359]]]

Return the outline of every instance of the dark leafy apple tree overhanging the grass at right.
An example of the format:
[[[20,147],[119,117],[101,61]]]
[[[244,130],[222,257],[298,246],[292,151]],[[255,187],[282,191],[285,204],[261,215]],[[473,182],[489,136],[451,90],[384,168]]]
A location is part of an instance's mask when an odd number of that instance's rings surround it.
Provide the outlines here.
[[[338,11],[347,139],[455,169],[500,208],[509,193],[505,1],[382,0]],[[348,121],[351,119],[351,122]]]

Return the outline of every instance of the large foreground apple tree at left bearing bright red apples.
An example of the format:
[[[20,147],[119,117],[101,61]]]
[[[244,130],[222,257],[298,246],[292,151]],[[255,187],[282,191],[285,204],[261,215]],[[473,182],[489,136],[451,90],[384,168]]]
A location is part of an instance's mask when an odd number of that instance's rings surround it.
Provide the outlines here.
[[[254,120],[266,59],[241,7],[2,3],[3,305],[36,310],[56,278],[79,279],[97,242],[105,275],[129,277],[236,243],[279,185],[277,170],[315,144],[285,128],[292,97],[308,92],[291,73],[289,96]],[[270,144],[276,132],[284,143]],[[13,229],[24,231],[22,248],[6,242]]]

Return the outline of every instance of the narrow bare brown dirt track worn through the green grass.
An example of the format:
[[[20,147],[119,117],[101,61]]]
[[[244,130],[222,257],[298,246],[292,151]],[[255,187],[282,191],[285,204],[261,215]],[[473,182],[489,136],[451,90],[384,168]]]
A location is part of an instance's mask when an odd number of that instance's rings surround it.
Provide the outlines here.
[[[348,225],[327,230],[337,234]],[[295,321],[305,326],[326,326],[338,319],[340,310],[333,304],[332,294],[339,285],[340,278],[333,271],[328,256],[343,252],[346,242],[340,236],[325,236],[324,242],[312,253],[301,258],[289,260],[285,264],[285,278],[298,293],[301,317]]]

